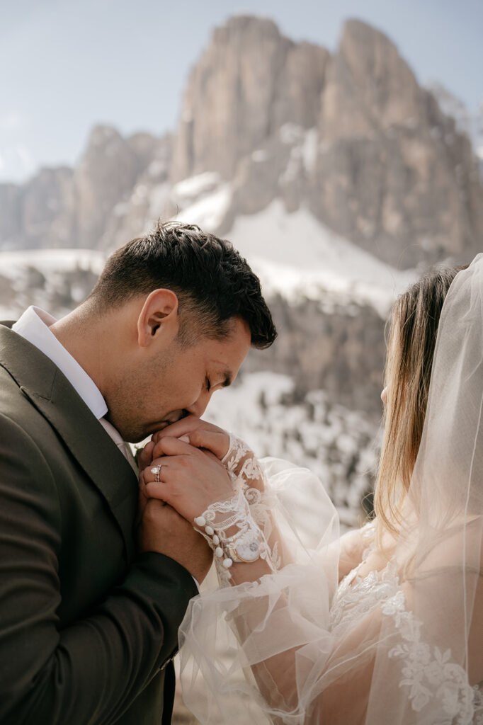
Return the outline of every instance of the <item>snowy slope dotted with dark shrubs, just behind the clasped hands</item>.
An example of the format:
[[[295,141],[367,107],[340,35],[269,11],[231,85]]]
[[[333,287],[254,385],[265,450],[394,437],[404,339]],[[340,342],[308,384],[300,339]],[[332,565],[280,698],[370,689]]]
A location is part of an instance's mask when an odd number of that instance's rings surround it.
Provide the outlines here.
[[[378,426],[362,413],[331,404],[321,390],[300,399],[289,376],[259,372],[241,375],[233,387],[215,394],[204,417],[234,431],[258,456],[313,471],[342,523],[355,525],[363,518],[360,502],[373,485],[379,438]],[[309,518],[317,510],[310,495],[294,502]]]

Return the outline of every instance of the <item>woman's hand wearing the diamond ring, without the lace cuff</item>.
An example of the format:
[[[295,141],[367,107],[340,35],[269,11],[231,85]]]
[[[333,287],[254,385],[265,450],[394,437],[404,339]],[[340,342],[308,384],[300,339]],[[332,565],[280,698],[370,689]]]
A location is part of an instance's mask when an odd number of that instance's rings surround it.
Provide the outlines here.
[[[168,436],[157,442],[157,451],[152,465],[139,478],[144,497],[165,501],[193,523],[210,504],[233,495],[226,468],[210,452]],[[157,466],[159,473],[152,473]],[[159,481],[155,481],[156,475]]]

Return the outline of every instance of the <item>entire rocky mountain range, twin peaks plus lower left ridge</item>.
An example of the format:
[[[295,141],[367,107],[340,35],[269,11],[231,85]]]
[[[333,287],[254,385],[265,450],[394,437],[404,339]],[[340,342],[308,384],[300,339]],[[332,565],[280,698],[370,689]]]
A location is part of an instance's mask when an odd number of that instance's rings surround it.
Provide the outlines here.
[[[98,127],[75,170],[1,184],[0,249],[117,247],[159,216],[182,218],[177,187],[207,173],[219,233],[282,199],[392,265],[481,248],[471,142],[386,36],[349,20],[330,54],[241,16],[191,71],[173,137]]]

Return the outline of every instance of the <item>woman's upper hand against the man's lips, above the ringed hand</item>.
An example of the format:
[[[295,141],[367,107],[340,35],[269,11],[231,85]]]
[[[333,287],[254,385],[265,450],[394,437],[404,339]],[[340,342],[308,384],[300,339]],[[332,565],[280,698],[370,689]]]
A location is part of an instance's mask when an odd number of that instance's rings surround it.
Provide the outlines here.
[[[181,421],[163,428],[162,431],[157,431],[152,436],[152,442],[154,442],[153,457],[157,458],[162,455],[162,447],[158,446],[162,440],[181,437],[195,448],[210,450],[218,460],[226,455],[230,445],[230,436],[226,431],[223,431],[223,428],[202,421],[201,418],[197,418],[195,415],[188,415],[186,418],[181,418]]]

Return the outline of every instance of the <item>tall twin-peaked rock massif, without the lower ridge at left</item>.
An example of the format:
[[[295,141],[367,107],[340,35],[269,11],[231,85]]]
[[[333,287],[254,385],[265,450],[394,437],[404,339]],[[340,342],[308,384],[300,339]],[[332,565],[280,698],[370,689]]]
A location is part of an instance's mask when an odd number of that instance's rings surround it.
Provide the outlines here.
[[[481,247],[468,137],[394,44],[357,20],[333,56],[268,20],[237,17],[215,31],[186,89],[171,173],[208,169],[233,184],[227,230],[281,196],[391,264]]]

